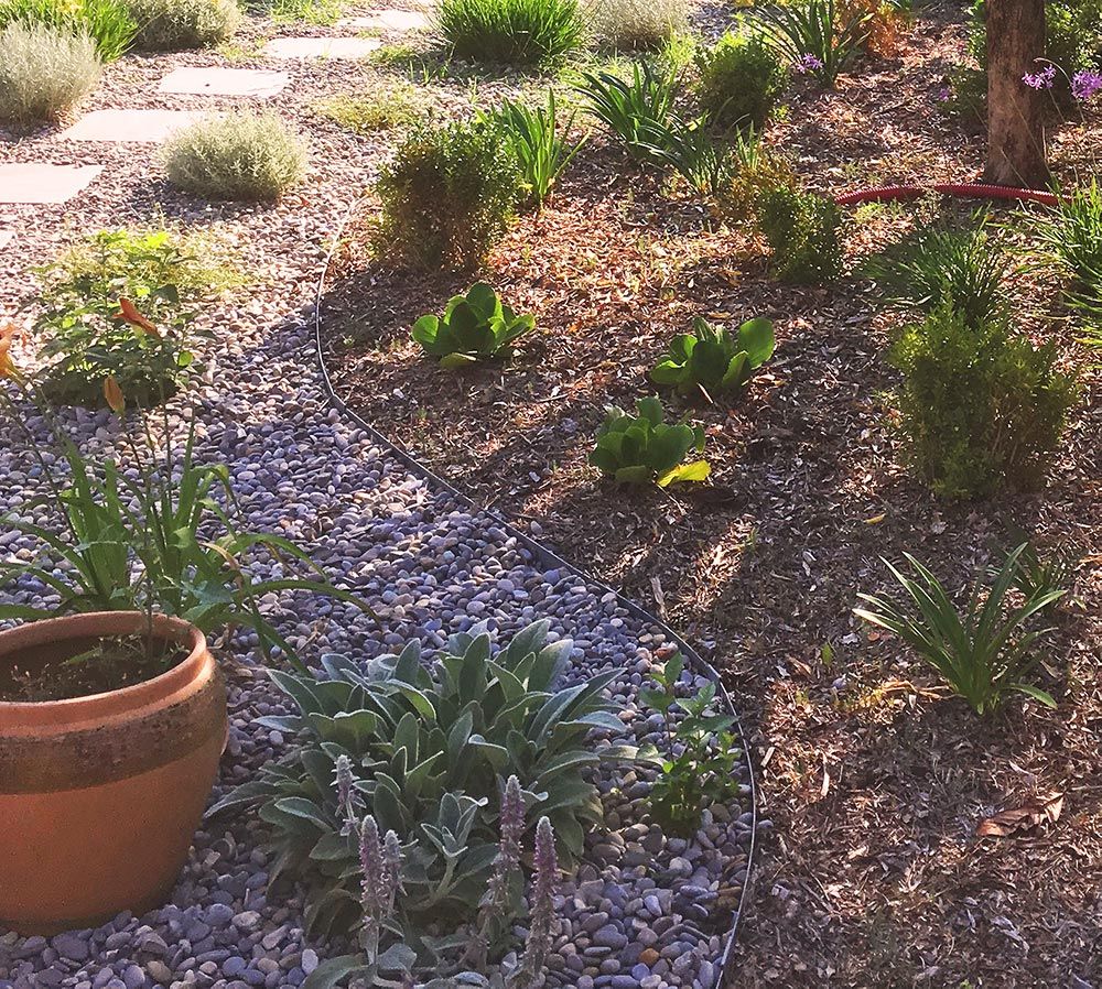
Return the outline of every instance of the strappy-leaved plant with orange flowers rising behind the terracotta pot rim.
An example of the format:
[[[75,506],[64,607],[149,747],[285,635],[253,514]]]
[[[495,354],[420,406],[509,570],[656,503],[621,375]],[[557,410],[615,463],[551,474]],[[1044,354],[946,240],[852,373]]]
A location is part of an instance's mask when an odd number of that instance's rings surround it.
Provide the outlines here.
[[[121,308],[145,320],[127,300]],[[147,332],[155,333],[149,323]],[[144,611],[182,618],[205,634],[251,629],[266,652],[294,657],[284,638],[260,611],[271,593],[309,590],[369,611],[348,590],[324,579],[306,554],[288,540],[241,526],[242,513],[229,470],[201,463],[195,420],[174,441],[168,412],[156,425],[141,410],[128,413],[114,376],[104,401],[118,415],[120,459],[86,456],[39,389],[11,356],[14,324],[0,327],[0,409],[9,428],[22,433],[45,491],[0,518],[0,526],[37,543],[30,562],[0,559],[0,582],[15,604],[0,605],[0,620],[34,621],[67,612]],[[29,424],[37,406],[50,439]],[[53,446],[57,455],[47,447]],[[32,518],[45,509],[54,523]],[[250,569],[267,554],[273,569],[289,562],[311,578],[253,579]]]

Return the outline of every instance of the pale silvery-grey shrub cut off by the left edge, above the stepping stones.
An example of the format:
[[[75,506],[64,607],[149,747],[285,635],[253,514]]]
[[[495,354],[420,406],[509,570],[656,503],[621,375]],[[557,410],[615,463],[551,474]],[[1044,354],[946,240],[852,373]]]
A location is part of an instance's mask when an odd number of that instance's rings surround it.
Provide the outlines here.
[[[0,120],[57,120],[99,81],[101,67],[86,31],[12,22],[0,30]]]

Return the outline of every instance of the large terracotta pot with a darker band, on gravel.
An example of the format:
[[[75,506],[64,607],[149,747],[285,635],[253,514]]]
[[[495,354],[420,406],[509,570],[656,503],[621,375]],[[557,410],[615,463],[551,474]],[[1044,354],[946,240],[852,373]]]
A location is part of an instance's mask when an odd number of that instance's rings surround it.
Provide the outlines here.
[[[77,655],[141,631],[98,612],[0,632],[0,664]],[[107,694],[0,703],[0,927],[50,934],[164,902],[226,741],[226,686],[203,633],[156,616],[190,650],[179,665]]]

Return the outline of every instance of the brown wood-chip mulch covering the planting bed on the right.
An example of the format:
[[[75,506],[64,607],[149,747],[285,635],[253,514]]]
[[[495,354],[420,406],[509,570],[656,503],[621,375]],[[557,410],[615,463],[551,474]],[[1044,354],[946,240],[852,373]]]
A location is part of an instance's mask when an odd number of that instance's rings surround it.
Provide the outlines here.
[[[712,31],[723,17],[702,13]],[[939,104],[964,51],[962,13],[923,9],[894,57],[864,59],[832,93],[798,83],[767,140],[830,193],[974,181],[984,135]],[[428,88],[446,101],[456,80]],[[1057,173],[1082,174],[1100,135],[1096,110],[1054,127]],[[323,334],[338,392],[478,503],[668,616],[722,670],[774,823],[739,987],[1102,985],[1098,351],[1076,343],[1044,276],[1011,279],[1015,319],[1057,338],[1083,401],[1045,490],[940,501],[909,476],[892,426],[885,351],[903,317],[856,273],[919,219],[971,209],[854,210],[851,274],[793,289],[768,278],[753,238],[714,226],[594,124],[552,202],[518,220],[485,270],[371,260],[368,197],[329,272]],[[1008,242],[1025,241],[1016,208],[995,217]],[[458,374],[409,329],[476,278],[534,314],[537,330],[511,361]],[[710,485],[618,489],[586,463],[604,406],[653,393],[648,370],[696,315],[732,327],[768,316],[777,354],[734,407],[663,395],[705,425]],[[851,609],[860,591],[889,589],[880,557],[914,553],[964,589],[1019,530],[1077,561],[1038,671],[1058,708],[1014,700],[979,719]],[[977,837],[996,812],[1054,806],[1056,794],[1055,823]]]

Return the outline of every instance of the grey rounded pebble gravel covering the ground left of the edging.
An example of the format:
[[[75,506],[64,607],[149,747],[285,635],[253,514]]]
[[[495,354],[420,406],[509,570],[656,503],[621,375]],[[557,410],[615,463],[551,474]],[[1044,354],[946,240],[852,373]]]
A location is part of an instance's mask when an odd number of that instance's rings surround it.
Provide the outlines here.
[[[239,44],[249,48],[269,33],[255,21]],[[172,68],[201,64],[219,64],[219,57],[128,57],[108,68],[86,109],[218,109],[248,102],[155,94],[156,80]],[[238,64],[272,67],[249,58]],[[569,680],[615,670],[611,689],[624,708],[623,737],[657,739],[661,719],[637,695],[651,661],[665,651],[660,630],[601,588],[538,564],[493,519],[471,513],[410,475],[328,406],[309,325],[313,285],[335,219],[359,195],[381,145],[342,131],[313,109],[317,99],[355,91],[368,70],[334,62],[296,63],[292,70],[292,85],[266,104],[309,132],[312,172],[302,192],[274,207],[181,195],[160,180],[155,152],[144,145],[62,142],[56,129],[18,138],[0,133],[3,161],[105,165],[65,207],[0,207],[0,227],[17,235],[15,251],[0,258],[0,315],[17,314],[33,286],[34,264],[85,231],[161,222],[208,230],[247,284],[203,315],[215,343],[203,355],[202,380],[174,405],[173,424],[182,430],[194,419],[201,455],[229,465],[250,526],[298,540],[382,618],[378,628],[350,608],[302,596],[266,602],[292,644],[307,656],[346,651],[366,659],[411,637],[435,650],[449,633],[479,621],[507,639],[548,618],[553,634],[574,641]],[[108,413],[76,410],[64,420],[87,448],[115,450],[118,427]],[[26,424],[39,434],[44,430],[31,412]],[[18,510],[36,491],[36,472],[19,442],[0,450],[0,513]],[[4,553],[28,558],[30,546],[7,541]],[[258,577],[264,576],[258,568]],[[11,599],[37,596],[24,588]],[[281,702],[250,657],[249,644],[235,640],[223,651],[231,727],[215,796],[288,745],[253,724],[256,716],[278,711]],[[690,672],[684,688],[703,682]],[[724,935],[748,866],[748,767],[739,772],[739,795],[705,813],[699,833],[682,839],[663,835],[641,816],[638,797],[649,790],[652,771],[602,771],[597,784],[607,828],[587,835],[584,862],[562,887],[548,985],[716,985]],[[96,930],[50,939],[0,932],[0,989],[300,985],[320,959],[346,945],[311,943],[300,889],[267,889],[262,838],[252,815],[202,830],[172,903],[144,916],[122,914]]]

